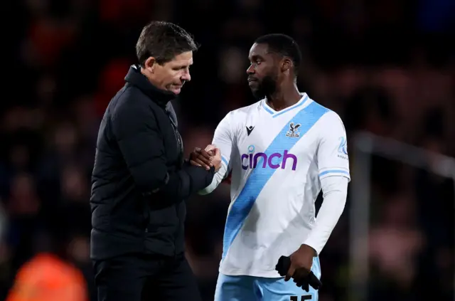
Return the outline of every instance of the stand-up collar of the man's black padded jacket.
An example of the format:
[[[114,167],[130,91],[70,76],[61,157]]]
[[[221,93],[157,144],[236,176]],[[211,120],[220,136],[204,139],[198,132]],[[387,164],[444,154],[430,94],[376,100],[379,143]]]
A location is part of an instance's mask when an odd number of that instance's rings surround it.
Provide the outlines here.
[[[125,81],[131,85],[139,88],[145,95],[149,96],[151,100],[156,102],[161,107],[166,107],[169,101],[177,97],[176,94],[161,90],[152,85],[149,80],[141,73],[139,65],[132,65],[129,68]]]

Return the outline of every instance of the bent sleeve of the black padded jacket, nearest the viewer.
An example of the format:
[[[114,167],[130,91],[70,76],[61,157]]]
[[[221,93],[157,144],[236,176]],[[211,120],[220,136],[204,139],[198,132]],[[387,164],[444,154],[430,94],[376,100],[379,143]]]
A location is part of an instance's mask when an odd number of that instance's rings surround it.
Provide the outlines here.
[[[166,201],[177,203],[208,186],[213,179],[214,168],[207,171],[189,164],[168,173],[166,149],[154,112],[137,102],[117,107],[112,115],[112,132],[144,196],[160,194]]]

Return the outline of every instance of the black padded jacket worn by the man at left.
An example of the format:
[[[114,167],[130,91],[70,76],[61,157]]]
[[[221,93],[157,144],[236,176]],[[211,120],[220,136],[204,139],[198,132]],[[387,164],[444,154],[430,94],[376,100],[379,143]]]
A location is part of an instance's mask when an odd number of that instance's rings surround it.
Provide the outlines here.
[[[124,253],[165,256],[184,251],[185,200],[215,173],[183,159],[170,100],[133,65],[109,102],[97,137],[92,172],[94,260]]]

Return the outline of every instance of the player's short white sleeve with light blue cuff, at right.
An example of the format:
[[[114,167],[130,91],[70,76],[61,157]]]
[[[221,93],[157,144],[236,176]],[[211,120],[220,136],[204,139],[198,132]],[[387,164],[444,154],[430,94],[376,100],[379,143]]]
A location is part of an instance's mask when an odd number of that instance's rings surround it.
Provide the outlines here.
[[[328,112],[321,124],[318,144],[319,179],[345,176],[350,180],[348,139],[343,121],[336,112]]]

